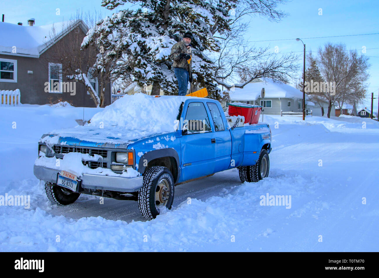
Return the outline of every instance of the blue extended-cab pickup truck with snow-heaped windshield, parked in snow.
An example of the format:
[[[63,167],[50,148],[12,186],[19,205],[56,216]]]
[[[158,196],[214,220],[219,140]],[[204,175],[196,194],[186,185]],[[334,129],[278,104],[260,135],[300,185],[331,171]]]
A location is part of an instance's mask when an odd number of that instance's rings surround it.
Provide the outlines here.
[[[228,118],[213,99],[141,95],[122,97],[89,124],[42,135],[34,175],[51,202],[68,205],[81,193],[136,200],[153,219],[171,208],[176,185],[231,168],[241,182],[268,176],[268,124]]]

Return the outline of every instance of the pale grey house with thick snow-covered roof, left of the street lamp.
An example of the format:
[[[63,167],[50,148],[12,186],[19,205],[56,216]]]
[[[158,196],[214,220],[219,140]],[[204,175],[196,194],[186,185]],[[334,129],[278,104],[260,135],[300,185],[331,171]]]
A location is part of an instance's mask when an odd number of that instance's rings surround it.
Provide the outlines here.
[[[265,88],[265,98],[261,98],[262,88]],[[258,79],[243,88],[234,88],[229,91],[229,96],[231,102],[261,105],[265,114],[280,115],[280,110],[302,112],[303,93],[288,84],[271,79]]]

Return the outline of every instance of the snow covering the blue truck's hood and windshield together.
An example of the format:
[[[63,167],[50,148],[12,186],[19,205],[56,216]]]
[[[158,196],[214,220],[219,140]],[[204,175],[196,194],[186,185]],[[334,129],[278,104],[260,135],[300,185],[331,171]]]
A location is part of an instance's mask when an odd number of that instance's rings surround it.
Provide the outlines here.
[[[124,95],[96,113],[89,124],[53,130],[41,138],[48,144],[130,144],[174,132],[180,104],[188,96]],[[84,142],[83,142],[84,141]]]

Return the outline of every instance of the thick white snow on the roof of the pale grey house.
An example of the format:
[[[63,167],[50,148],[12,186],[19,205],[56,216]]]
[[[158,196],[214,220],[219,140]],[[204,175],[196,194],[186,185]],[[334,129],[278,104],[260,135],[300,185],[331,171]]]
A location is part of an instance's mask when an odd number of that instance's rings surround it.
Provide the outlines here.
[[[265,98],[302,98],[303,93],[298,89],[280,81],[268,79],[263,82],[250,82],[242,89],[235,88],[229,92],[231,100],[251,101],[260,97],[262,88],[265,88]]]

